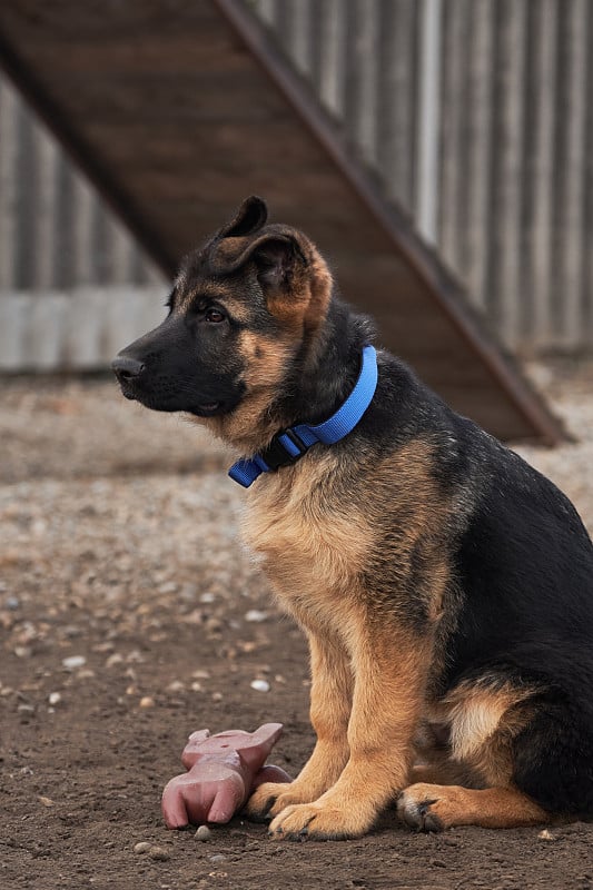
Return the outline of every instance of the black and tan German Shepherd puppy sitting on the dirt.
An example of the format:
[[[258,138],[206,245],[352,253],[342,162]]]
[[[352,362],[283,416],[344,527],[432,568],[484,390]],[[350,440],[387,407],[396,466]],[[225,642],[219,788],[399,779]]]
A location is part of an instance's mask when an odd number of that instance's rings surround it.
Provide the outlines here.
[[[319,424],[373,337],[265,202],[181,266],[165,322],[113,362],[123,395],[243,457]],[[567,498],[387,352],[355,427],[263,473],[245,537],[310,646],[317,741],[247,814],[353,838],[593,814],[593,545]]]

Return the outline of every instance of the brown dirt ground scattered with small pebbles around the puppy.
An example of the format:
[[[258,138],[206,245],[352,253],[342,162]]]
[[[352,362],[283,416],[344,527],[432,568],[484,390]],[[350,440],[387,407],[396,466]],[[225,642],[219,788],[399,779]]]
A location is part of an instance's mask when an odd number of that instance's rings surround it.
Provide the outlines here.
[[[535,367],[580,442],[523,449],[593,526],[593,367]],[[189,732],[279,721],[313,744],[299,631],[236,543],[245,493],[204,434],[107,380],[0,379],[0,888],[593,887],[593,824],[270,841],[167,831]],[[265,680],[269,689],[251,686]],[[148,851],[135,850],[139,842]]]

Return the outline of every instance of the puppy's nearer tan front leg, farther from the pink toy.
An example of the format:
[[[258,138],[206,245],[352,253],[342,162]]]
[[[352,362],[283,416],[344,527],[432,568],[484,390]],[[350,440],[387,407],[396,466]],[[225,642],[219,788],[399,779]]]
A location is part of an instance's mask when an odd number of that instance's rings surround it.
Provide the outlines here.
[[[353,650],[355,685],[349,759],[338,781],[313,803],[284,809],[269,833],[290,840],[364,834],[407,781],[412,738],[422,710],[426,641],[385,626],[363,627]]]

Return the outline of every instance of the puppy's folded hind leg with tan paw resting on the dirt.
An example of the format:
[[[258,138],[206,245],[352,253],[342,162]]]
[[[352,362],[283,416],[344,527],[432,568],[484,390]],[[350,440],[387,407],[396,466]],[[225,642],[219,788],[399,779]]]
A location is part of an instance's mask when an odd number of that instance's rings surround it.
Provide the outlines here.
[[[593,743],[586,706],[559,692],[482,678],[448,696],[453,763],[482,784],[418,781],[399,795],[397,810],[412,828],[514,828],[593,812]],[[429,777],[429,773],[426,774]]]

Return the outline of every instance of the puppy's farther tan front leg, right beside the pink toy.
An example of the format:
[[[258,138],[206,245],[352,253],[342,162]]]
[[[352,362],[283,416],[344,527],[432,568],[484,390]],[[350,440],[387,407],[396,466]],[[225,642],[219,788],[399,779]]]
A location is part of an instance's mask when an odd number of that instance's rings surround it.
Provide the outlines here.
[[[338,780],[348,760],[348,719],[353,672],[347,653],[314,633],[310,647],[310,721],[317,735],[312,756],[290,784],[266,782],[250,797],[246,812],[251,819],[269,819],[286,807],[309,803]]]

